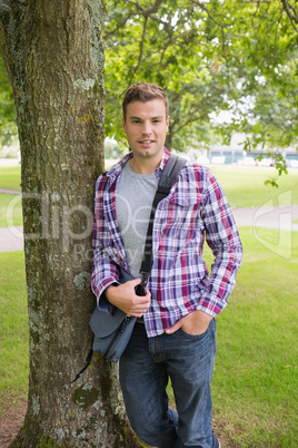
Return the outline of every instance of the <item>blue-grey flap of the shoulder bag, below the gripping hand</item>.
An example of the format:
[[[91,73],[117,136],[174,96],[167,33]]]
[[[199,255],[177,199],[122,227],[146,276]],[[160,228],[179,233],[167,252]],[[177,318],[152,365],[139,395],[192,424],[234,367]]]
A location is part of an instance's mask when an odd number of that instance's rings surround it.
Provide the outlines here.
[[[107,311],[96,308],[89,325],[97,338],[106,338],[120,325],[125,318],[126,313],[118,308],[115,308],[113,314],[108,314]]]

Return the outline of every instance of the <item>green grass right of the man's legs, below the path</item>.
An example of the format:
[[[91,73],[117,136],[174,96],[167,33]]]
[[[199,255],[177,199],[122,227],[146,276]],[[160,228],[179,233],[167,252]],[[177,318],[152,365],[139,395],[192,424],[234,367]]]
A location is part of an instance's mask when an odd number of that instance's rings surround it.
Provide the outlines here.
[[[272,251],[278,231],[258,228],[259,241],[251,228],[241,227],[240,234],[244,264],[229,305],[217,319],[213,429],[224,447],[295,447],[298,233],[292,233],[288,259],[278,246]],[[286,247],[281,252],[289,253]],[[210,262],[209,251],[206,256]]]

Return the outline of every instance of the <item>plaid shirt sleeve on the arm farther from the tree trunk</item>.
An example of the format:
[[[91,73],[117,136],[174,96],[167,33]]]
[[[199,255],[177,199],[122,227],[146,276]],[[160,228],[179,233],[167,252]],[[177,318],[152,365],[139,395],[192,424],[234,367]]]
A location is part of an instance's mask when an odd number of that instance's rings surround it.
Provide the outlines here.
[[[208,188],[201,211],[206,242],[215,262],[197,310],[216,316],[228,302],[242,261],[242,245],[227,196],[208,172]]]

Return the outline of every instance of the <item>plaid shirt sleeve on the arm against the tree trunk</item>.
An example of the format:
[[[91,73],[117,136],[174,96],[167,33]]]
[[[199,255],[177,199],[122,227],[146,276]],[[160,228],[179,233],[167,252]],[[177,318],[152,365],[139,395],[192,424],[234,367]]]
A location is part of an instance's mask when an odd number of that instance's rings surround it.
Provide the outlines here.
[[[119,269],[107,253],[108,226],[103,214],[102,176],[96,186],[95,217],[92,231],[93,267],[91,274],[91,288],[97,298],[98,308],[107,311],[111,305],[105,296],[105,290],[111,284],[119,284]]]

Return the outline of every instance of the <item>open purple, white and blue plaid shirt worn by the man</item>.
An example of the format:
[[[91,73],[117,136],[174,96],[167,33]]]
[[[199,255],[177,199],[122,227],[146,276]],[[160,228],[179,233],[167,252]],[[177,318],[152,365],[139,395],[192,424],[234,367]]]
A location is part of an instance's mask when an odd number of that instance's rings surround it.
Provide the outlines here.
[[[119,283],[118,266],[129,272],[116,216],[121,167],[132,154],[97,181],[93,224],[92,291],[98,306],[110,312],[105,290]],[[156,171],[159,177],[169,158]],[[212,250],[210,275],[203,242]],[[187,162],[169,196],[156,211],[153,265],[148,279],[151,303],[143,320],[148,337],[161,334],[183,315],[201,310],[216,316],[226,305],[241,264],[242,246],[227,197],[207,167]]]

